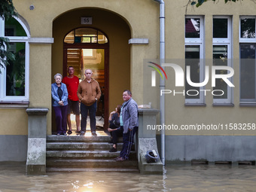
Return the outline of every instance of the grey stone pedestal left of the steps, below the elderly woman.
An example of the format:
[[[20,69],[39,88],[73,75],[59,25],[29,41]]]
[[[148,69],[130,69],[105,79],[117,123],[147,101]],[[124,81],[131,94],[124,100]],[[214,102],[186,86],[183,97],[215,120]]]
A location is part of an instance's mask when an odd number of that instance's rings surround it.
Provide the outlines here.
[[[27,108],[28,153],[26,175],[45,175],[46,173],[46,130],[48,108]]]

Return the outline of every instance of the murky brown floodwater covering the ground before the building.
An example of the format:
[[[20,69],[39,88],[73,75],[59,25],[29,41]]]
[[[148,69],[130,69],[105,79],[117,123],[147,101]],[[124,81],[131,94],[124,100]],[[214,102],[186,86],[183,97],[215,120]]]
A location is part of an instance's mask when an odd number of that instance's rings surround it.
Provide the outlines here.
[[[0,192],[256,191],[255,166],[166,166],[163,175],[51,172],[25,175],[25,166],[0,166]]]

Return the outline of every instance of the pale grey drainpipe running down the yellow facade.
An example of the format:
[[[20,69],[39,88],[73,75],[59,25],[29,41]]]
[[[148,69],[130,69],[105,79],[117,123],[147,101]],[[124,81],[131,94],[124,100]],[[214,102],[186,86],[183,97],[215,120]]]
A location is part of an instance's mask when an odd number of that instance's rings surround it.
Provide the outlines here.
[[[164,26],[164,2],[163,0],[154,0],[155,2],[160,3],[160,66],[165,62],[165,26]],[[163,66],[162,66],[163,67]],[[163,67],[164,69],[164,67]],[[161,72],[163,75],[163,72]],[[165,89],[165,80],[164,78],[160,78],[160,90]],[[161,92],[160,92],[161,93]],[[160,96],[160,125],[163,125],[165,123],[165,106],[164,106],[164,94],[163,96]],[[165,130],[161,130],[161,160],[163,165],[166,164],[166,145],[165,145]]]

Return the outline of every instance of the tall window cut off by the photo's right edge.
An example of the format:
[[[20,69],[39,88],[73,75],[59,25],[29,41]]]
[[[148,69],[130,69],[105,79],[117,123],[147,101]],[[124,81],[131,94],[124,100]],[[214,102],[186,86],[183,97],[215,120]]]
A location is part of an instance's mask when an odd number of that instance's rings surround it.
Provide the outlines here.
[[[240,103],[256,104],[256,17],[240,17]]]

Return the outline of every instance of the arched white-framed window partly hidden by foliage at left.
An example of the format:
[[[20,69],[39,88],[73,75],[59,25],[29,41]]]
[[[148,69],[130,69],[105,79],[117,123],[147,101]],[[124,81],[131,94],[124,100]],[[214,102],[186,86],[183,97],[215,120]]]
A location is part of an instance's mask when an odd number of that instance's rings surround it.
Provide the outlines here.
[[[0,20],[0,36],[9,38],[15,60],[0,67],[0,102],[29,101],[29,32],[18,18]]]

